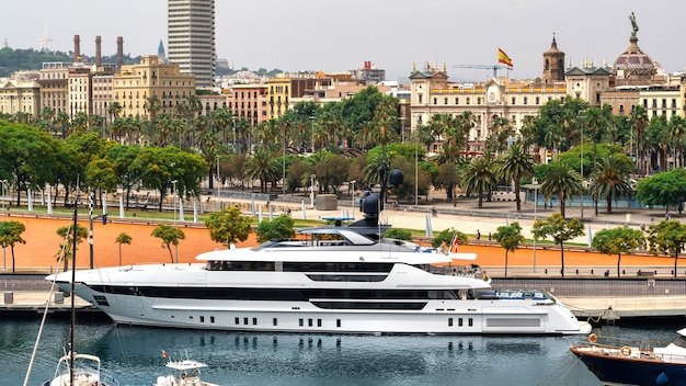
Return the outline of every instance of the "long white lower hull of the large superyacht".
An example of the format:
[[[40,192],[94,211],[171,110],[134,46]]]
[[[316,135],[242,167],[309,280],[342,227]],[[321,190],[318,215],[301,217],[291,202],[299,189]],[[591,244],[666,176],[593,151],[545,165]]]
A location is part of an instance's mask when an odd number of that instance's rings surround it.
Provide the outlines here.
[[[317,299],[264,302],[150,297],[93,290],[99,286],[91,287],[81,282],[77,295],[100,308],[115,322],[124,325],[369,334],[553,336],[588,333],[591,328],[587,323],[580,323],[567,308],[549,299],[445,299],[410,304],[418,309],[392,309],[397,303],[387,300],[369,302],[369,307],[375,309],[341,309],[321,308]],[[136,293],[136,290],[132,292]],[[327,305],[332,307],[330,302]],[[342,302],[333,307],[339,306],[350,305]],[[365,305],[356,304],[354,307]]]

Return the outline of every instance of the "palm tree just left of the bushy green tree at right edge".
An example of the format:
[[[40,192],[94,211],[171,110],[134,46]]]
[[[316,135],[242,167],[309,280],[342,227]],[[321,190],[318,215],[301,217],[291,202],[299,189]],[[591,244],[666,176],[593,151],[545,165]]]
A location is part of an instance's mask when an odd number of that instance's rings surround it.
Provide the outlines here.
[[[622,154],[607,155],[598,162],[598,172],[593,182],[593,196],[597,201],[604,197],[607,202],[607,213],[613,213],[613,198],[631,195],[631,185],[627,177],[631,174],[633,162]]]

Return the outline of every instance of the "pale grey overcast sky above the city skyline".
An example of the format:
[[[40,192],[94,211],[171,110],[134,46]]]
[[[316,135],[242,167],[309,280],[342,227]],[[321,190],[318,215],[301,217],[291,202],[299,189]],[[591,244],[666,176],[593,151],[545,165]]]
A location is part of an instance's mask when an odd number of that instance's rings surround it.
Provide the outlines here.
[[[233,68],[343,71],[365,60],[387,78],[407,77],[412,64],[445,63],[455,80],[483,80],[490,70],[454,65],[493,65],[498,48],[513,60],[511,78],[539,77],[553,33],[558,47],[580,65],[584,57],[611,65],[629,45],[634,12],[639,46],[668,72],[686,68],[681,44],[686,2],[637,0],[217,0],[217,57]],[[116,53],[116,37],[132,56],[167,47],[165,0],[3,1],[0,39],[12,48]],[[501,72],[503,75],[503,72]]]

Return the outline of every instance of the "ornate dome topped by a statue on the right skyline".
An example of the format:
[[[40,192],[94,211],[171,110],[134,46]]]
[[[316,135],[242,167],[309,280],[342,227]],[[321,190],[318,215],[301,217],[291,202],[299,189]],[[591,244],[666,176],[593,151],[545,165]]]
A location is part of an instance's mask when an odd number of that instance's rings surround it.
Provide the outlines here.
[[[639,26],[636,23],[633,12],[629,20],[632,27],[629,47],[615,60],[613,76],[617,80],[625,79],[633,83],[637,80],[649,80],[654,77],[658,73],[658,65],[638,45],[639,38],[636,36],[636,33],[639,31]]]

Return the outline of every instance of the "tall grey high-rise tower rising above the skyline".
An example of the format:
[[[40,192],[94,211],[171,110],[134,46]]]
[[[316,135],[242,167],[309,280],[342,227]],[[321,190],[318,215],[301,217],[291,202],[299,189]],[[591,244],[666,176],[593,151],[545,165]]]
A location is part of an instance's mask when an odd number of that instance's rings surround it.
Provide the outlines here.
[[[215,80],[215,0],[168,0],[168,60],[195,75],[199,88]]]

